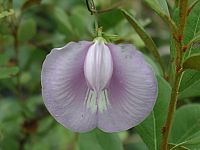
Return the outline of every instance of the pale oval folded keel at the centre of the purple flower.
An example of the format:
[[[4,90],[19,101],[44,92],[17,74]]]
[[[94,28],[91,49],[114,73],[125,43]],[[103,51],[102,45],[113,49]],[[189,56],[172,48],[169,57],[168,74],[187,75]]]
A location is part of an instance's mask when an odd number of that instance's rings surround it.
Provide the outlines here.
[[[102,40],[90,46],[84,63],[84,74],[89,88],[94,90],[97,99],[109,84],[113,72],[113,61],[109,48]]]

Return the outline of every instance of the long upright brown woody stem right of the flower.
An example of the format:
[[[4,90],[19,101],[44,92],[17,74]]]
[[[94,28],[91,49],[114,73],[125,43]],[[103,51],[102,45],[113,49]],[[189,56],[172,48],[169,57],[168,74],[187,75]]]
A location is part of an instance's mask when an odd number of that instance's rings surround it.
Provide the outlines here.
[[[174,35],[175,48],[176,48],[176,59],[175,59],[176,72],[175,72],[175,79],[172,84],[172,93],[171,93],[171,100],[170,100],[170,104],[168,108],[167,119],[165,122],[165,126],[163,127],[163,140],[161,143],[161,150],[168,149],[168,139],[169,139],[169,135],[172,128],[174,112],[176,110],[181,77],[183,75],[183,70],[182,70],[182,61],[183,61],[183,55],[184,55],[183,33],[184,33],[184,28],[185,28],[186,18],[187,18],[188,0],[181,0],[179,3],[180,3],[179,4],[180,6],[179,25]]]

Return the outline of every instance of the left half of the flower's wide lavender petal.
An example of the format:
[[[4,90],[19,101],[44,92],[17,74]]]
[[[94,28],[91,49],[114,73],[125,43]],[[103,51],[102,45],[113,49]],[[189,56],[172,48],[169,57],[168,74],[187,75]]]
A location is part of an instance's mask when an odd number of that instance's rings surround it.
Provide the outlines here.
[[[66,128],[85,132],[96,127],[95,109],[89,109],[84,59],[92,42],[71,42],[53,49],[42,68],[42,95],[54,118]]]

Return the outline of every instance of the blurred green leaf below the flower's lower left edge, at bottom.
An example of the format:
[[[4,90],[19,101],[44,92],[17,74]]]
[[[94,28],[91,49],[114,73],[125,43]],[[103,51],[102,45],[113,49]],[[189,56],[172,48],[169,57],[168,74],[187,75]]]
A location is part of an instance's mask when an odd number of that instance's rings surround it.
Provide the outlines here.
[[[52,117],[45,117],[38,122],[34,140],[26,143],[27,150],[70,150],[73,133],[58,124]]]

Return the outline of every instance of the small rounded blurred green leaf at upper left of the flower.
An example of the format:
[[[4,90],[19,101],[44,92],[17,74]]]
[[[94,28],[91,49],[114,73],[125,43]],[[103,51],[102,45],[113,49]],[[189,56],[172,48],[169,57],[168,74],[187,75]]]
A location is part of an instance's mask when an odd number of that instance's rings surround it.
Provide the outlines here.
[[[33,19],[24,19],[18,29],[19,41],[25,42],[36,34],[36,22]]]

